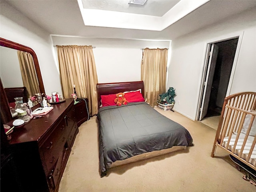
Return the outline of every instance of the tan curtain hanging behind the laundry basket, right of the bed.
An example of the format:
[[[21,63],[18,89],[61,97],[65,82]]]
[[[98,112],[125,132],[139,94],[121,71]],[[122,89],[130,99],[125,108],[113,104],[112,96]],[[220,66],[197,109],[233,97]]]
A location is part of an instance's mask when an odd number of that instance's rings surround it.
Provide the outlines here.
[[[144,81],[146,102],[154,107],[159,94],[166,92],[168,49],[149,49],[142,52],[141,80]]]

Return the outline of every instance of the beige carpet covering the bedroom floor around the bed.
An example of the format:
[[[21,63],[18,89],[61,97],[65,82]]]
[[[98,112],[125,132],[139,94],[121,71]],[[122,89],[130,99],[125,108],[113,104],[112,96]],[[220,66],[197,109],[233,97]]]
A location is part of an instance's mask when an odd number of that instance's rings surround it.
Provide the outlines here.
[[[155,108],[183,125],[194,146],[186,150],[113,168],[100,178],[98,120],[82,124],[68,159],[59,192],[255,192],[226,152],[211,158],[216,130],[172,111]],[[219,156],[219,157],[217,157]]]

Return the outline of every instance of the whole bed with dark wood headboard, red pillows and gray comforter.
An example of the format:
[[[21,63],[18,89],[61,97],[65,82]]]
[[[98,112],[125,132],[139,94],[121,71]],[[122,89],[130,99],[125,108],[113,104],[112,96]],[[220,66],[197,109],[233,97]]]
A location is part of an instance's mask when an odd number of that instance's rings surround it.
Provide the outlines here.
[[[100,176],[130,162],[192,146],[192,136],[144,101],[144,83],[97,84]],[[116,106],[115,94],[124,92],[127,105]]]

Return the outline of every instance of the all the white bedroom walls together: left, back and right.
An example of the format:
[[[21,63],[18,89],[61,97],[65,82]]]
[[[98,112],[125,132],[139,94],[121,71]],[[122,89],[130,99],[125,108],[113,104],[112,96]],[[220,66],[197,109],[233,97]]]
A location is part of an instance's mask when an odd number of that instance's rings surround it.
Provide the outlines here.
[[[0,36],[32,48],[38,56],[46,94],[61,92],[58,65],[54,60],[56,52],[49,33],[2,1],[0,14]],[[256,91],[256,8],[253,8],[172,41],[167,88],[176,88],[174,109],[177,112],[195,120],[206,44],[234,34],[243,34],[243,38],[230,94]],[[140,80],[140,49],[166,48],[170,44],[98,38],[53,37],[53,40],[59,45],[96,46],[93,51],[100,83]]]

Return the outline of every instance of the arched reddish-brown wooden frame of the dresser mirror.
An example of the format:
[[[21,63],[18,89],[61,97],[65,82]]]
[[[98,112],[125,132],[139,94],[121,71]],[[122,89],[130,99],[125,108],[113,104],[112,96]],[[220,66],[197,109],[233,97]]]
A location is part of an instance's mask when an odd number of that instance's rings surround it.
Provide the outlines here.
[[[42,75],[41,75],[38,59],[37,59],[37,56],[36,56],[36,53],[34,52],[34,50],[32,50],[32,48],[30,48],[30,47],[24,46],[22,44],[18,44],[16,42],[12,42],[12,41],[4,39],[4,38],[0,38],[0,46],[11,48],[11,49],[16,49],[16,50],[20,50],[20,51],[24,51],[24,52],[28,52],[32,55],[32,58],[34,60],[35,69],[36,69],[37,78],[38,78],[40,93],[45,93],[44,84],[43,84],[43,80],[42,80]],[[8,99],[6,97],[6,93],[4,91],[2,81],[0,83],[0,86],[1,86],[0,87],[1,121],[3,121],[4,123],[7,123],[7,122],[12,120],[12,114],[10,112]]]

